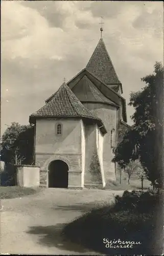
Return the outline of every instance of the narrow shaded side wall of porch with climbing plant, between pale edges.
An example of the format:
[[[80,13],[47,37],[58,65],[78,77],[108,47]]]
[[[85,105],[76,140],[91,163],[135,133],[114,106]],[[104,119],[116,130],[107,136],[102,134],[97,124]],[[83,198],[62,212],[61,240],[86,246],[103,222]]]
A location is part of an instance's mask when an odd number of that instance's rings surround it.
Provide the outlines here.
[[[89,185],[102,185],[100,161],[97,151],[97,124],[85,125],[85,173],[84,173],[84,186]]]

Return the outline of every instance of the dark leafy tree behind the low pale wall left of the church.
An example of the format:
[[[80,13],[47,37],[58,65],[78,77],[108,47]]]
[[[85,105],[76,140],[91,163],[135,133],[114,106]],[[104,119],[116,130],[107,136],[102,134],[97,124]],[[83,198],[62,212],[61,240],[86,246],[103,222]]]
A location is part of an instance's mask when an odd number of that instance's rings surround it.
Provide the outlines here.
[[[33,162],[34,127],[13,122],[2,136],[2,160],[14,164]]]

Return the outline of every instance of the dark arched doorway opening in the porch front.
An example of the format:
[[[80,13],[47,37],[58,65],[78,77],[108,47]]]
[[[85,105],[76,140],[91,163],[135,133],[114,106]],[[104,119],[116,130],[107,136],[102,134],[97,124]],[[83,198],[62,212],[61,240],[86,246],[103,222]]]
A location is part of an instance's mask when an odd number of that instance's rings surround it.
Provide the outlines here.
[[[68,187],[68,165],[54,160],[49,165],[49,187]]]

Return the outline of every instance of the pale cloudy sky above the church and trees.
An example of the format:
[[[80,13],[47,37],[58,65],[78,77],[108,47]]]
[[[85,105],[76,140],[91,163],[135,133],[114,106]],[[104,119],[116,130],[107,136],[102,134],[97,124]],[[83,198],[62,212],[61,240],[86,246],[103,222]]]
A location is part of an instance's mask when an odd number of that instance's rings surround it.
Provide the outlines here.
[[[123,86],[128,123],[131,92],[163,62],[163,3],[148,1],[1,1],[1,136],[29,123],[63,83],[86,67],[103,39]]]

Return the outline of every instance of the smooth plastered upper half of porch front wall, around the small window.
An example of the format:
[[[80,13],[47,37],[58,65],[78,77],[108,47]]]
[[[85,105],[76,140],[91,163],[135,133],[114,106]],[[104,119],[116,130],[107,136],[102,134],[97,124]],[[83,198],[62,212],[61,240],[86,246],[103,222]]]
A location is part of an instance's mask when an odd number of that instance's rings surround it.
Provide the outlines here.
[[[56,125],[62,125],[62,135]],[[36,121],[36,153],[81,153],[80,120],[38,119]]]

